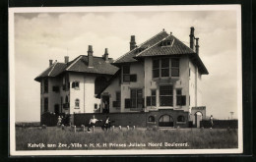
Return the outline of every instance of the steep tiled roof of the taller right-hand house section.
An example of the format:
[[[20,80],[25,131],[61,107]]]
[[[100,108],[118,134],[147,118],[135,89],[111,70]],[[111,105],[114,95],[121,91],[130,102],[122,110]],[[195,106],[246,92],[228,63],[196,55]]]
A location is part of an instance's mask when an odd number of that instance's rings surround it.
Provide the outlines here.
[[[169,45],[161,45],[163,41],[170,42]],[[142,50],[139,50],[142,49]],[[133,50],[127,52],[118,58],[113,64],[123,64],[137,62],[138,59],[144,57],[166,56],[166,55],[189,55],[192,61],[199,67],[203,75],[208,75],[208,70],[203,64],[198,54],[181,42],[172,34],[167,34],[164,30],[156,34],[149,40],[137,46]]]

